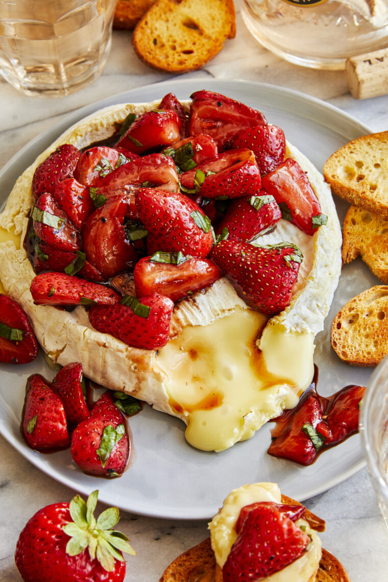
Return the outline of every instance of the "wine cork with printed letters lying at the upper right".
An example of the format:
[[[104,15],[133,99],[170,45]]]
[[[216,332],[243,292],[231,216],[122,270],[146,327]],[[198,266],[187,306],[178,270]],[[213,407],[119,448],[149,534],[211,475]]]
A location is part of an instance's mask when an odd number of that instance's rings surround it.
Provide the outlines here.
[[[346,59],[345,74],[355,99],[388,94],[388,48]]]

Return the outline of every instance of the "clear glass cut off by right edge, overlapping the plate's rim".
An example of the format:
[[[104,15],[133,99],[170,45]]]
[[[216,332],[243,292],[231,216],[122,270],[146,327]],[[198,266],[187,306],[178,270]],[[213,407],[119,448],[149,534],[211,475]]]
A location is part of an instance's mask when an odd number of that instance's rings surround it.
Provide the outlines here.
[[[369,475],[388,530],[388,356],[369,380],[361,402],[359,429]]]

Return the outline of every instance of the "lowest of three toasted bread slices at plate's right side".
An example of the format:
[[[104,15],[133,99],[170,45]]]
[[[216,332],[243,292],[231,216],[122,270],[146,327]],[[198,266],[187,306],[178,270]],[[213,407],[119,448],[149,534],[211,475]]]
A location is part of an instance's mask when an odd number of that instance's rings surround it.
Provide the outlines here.
[[[375,366],[388,353],[388,286],[350,299],[334,317],[332,346],[351,365]]]

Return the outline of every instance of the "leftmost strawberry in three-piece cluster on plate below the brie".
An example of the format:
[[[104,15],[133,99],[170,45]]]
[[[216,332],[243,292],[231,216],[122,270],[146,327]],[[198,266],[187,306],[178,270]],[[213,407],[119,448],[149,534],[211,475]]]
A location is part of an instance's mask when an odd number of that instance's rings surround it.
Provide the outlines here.
[[[31,449],[53,450],[69,446],[62,400],[40,374],[27,379],[22,424],[24,438]]]

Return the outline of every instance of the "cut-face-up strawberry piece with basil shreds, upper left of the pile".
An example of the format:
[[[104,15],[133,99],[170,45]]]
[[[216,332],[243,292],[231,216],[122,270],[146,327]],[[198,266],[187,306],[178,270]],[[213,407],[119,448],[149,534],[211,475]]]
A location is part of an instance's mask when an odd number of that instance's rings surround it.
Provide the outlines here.
[[[84,186],[94,186],[99,178],[104,178],[126,162],[127,159],[122,152],[107,145],[97,145],[83,152],[74,170],[74,176]]]

